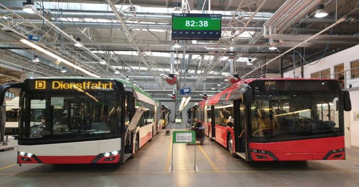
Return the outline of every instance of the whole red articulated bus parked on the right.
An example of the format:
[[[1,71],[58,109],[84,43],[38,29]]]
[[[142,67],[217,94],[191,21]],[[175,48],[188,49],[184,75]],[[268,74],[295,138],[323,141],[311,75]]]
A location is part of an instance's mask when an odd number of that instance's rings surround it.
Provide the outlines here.
[[[205,134],[245,160],[345,159],[348,91],[337,80],[241,80],[198,103]]]

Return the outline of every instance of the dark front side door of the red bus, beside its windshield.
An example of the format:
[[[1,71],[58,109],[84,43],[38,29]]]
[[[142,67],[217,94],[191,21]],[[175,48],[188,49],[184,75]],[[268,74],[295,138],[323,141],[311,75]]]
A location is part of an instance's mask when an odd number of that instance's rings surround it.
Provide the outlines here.
[[[246,122],[245,109],[241,99],[234,100],[234,136],[235,136],[235,151],[237,153],[246,152]],[[245,154],[243,154],[245,156]]]

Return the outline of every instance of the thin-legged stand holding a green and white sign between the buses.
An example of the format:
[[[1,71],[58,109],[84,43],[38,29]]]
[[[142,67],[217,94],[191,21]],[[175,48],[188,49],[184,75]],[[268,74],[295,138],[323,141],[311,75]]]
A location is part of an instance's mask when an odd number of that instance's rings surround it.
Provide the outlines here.
[[[173,143],[194,143],[194,171],[196,171],[196,133],[194,131],[172,132],[171,172],[173,171]]]

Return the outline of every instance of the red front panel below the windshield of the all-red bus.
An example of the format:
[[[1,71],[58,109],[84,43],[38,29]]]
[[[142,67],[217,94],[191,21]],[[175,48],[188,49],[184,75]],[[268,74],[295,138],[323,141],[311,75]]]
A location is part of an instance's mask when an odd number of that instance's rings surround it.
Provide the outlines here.
[[[316,138],[295,141],[281,141],[270,143],[249,143],[250,149],[270,151],[278,160],[322,160],[324,156],[331,150],[338,150],[344,148],[344,136]],[[342,156],[332,158],[335,155]],[[253,160],[272,160],[272,159],[258,159],[255,155],[262,155],[251,152]],[[335,153],[328,157],[328,159],[344,159],[345,152]]]

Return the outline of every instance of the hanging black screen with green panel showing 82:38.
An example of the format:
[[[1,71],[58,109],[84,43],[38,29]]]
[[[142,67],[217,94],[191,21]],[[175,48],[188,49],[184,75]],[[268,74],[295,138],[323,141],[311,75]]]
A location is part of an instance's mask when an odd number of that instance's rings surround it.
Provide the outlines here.
[[[218,40],[222,14],[172,14],[172,40]]]

